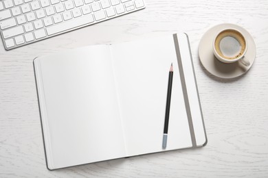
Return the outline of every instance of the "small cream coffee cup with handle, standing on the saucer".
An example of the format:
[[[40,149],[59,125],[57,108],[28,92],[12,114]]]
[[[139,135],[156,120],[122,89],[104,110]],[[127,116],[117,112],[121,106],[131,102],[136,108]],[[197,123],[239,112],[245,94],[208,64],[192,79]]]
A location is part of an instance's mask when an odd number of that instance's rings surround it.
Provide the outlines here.
[[[250,63],[245,59],[247,40],[237,29],[223,29],[216,34],[213,40],[215,57],[224,63],[241,62],[245,66]]]

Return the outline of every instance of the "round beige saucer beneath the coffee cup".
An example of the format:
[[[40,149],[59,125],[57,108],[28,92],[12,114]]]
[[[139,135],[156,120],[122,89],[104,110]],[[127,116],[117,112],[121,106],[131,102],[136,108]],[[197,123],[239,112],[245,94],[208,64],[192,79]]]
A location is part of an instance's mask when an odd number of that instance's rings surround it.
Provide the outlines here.
[[[212,42],[214,40],[214,36],[216,36],[219,31],[226,28],[234,28],[241,31],[243,36],[245,36],[248,44],[247,52],[245,53],[245,57],[249,60],[250,65],[244,66],[241,62],[234,62],[230,64],[225,64],[220,62],[213,53]],[[235,77],[239,77],[249,70],[252,66],[256,56],[256,44],[252,36],[245,29],[238,25],[223,23],[220,25],[216,25],[209,29],[199,42],[199,59],[205,69],[215,75],[216,77],[220,77],[223,79],[232,79]]]

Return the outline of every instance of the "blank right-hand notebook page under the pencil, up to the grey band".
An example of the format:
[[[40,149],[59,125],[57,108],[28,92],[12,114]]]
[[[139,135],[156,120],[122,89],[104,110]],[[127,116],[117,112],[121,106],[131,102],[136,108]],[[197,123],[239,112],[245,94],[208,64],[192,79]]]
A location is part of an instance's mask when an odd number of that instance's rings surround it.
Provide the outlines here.
[[[168,73],[173,84],[166,150],[192,147],[172,35],[111,46],[128,155],[163,151]]]

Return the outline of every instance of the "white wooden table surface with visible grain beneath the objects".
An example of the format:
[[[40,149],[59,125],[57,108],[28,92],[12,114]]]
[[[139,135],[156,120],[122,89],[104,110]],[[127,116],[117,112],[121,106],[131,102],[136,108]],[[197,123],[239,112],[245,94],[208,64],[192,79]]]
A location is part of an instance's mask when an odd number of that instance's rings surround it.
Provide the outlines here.
[[[198,57],[201,36],[219,23],[254,37],[254,65],[216,79]],[[190,38],[208,144],[49,171],[33,59],[64,49],[186,32]],[[12,51],[0,44],[0,177],[268,177],[268,1],[146,0],[146,9]]]

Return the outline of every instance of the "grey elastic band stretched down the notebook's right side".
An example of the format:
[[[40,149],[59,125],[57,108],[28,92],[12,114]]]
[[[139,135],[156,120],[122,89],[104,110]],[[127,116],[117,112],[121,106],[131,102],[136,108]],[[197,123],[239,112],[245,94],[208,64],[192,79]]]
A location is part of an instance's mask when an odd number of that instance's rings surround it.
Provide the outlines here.
[[[181,77],[181,88],[183,91],[184,103],[185,103],[186,113],[188,117],[188,124],[189,124],[191,139],[192,139],[192,147],[197,147],[197,141],[195,140],[195,136],[194,136],[194,127],[192,125],[192,115],[191,115],[191,110],[190,110],[190,105],[189,105],[186,82],[185,82],[184,73],[183,73],[181,53],[179,51],[179,41],[177,38],[177,34],[173,34],[173,39],[174,39],[174,44],[175,44],[175,49],[176,49],[177,61],[179,65],[179,75]]]

